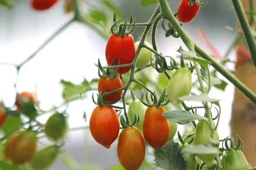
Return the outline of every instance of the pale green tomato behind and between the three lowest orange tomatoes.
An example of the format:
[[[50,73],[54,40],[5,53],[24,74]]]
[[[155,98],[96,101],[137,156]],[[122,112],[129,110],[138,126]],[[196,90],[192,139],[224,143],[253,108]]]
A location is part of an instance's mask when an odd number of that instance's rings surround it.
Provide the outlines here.
[[[136,113],[137,116],[139,115],[140,122],[136,127],[140,130],[141,134],[143,134],[142,127],[143,127],[143,121],[144,121],[146,109],[147,107],[143,105],[142,102],[140,102],[140,100],[138,99],[132,101],[128,108],[128,118],[130,122],[134,121],[134,113]]]

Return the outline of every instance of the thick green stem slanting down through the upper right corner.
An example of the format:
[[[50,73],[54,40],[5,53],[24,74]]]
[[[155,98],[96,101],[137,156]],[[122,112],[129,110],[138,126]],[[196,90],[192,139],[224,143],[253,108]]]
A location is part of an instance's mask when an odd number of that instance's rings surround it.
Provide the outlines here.
[[[240,0],[232,0],[233,6],[236,10],[237,17],[239,19],[239,23],[244,33],[245,40],[247,42],[251,59],[253,60],[253,65],[256,68],[256,41],[251,31],[250,25],[244,13],[242,4]]]

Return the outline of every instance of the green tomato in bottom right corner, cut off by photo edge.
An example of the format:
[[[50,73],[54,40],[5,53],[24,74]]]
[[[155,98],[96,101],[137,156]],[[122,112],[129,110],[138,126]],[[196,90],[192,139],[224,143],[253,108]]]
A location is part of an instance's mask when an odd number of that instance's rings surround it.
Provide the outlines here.
[[[241,150],[227,151],[221,161],[222,170],[249,170],[248,163]]]

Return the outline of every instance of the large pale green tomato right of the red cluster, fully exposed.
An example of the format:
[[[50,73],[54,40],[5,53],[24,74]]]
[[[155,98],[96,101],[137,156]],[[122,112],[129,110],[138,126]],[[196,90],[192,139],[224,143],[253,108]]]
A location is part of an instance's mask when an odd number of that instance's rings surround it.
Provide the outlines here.
[[[188,68],[179,68],[172,75],[167,86],[167,96],[173,105],[180,104],[179,98],[189,96],[192,90],[192,75]]]

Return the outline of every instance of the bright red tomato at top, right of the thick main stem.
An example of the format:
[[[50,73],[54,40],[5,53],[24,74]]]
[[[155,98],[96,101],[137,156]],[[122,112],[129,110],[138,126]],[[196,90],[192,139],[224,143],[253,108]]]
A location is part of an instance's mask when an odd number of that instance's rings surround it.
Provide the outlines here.
[[[189,6],[190,0],[181,0],[180,5],[178,7],[179,13],[177,14],[177,18],[182,23],[189,23],[194,20],[197,16],[200,6],[195,3],[192,6]]]

